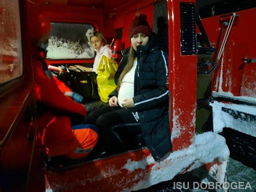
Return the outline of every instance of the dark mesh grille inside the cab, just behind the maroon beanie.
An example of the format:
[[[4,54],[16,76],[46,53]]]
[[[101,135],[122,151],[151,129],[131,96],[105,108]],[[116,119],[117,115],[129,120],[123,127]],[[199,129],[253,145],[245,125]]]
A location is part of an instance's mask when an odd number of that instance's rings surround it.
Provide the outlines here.
[[[160,1],[154,4],[152,31],[156,33],[162,40],[162,49],[168,53],[168,10],[167,1]]]

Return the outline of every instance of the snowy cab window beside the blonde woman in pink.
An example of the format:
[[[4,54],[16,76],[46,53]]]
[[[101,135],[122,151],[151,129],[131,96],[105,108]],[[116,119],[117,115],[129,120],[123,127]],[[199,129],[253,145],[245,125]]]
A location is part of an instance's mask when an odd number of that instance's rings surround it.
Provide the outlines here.
[[[92,59],[94,48],[90,36],[94,27],[88,24],[51,23],[47,59]]]

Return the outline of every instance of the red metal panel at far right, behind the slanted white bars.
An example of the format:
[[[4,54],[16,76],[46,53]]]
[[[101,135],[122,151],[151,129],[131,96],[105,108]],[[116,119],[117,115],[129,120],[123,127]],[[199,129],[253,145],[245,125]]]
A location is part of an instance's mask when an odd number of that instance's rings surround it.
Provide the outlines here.
[[[253,91],[256,88],[255,78],[253,78],[256,73],[256,68],[253,67],[255,64],[251,63],[243,66],[242,58],[247,57],[251,59],[256,57],[254,53],[256,26],[252,25],[255,23],[256,9],[253,8],[236,13],[239,14],[239,17],[236,17],[234,20],[227,39],[223,59],[220,60],[218,71],[215,72],[217,75],[215,75],[216,78],[213,82],[214,90],[221,91],[219,90],[221,88],[222,91],[231,92],[234,96],[255,97],[256,93]],[[202,23],[213,46],[216,46],[222,23],[224,21],[229,22],[230,18],[230,16],[223,17],[224,19],[220,20],[221,17],[223,16],[202,19]],[[226,29],[224,29],[223,37],[225,32]],[[222,82],[221,85],[220,82]]]

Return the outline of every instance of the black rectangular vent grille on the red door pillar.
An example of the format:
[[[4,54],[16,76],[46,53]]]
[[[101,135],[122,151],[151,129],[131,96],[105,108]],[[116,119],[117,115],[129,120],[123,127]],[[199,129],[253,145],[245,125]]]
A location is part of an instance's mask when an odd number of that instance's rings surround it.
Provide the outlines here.
[[[181,12],[181,55],[196,54],[196,12],[195,5],[180,3]]]

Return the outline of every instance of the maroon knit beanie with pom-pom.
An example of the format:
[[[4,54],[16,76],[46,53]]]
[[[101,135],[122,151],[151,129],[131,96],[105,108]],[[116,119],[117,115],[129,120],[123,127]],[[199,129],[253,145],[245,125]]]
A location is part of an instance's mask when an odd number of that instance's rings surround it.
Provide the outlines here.
[[[132,35],[137,33],[144,33],[148,37],[151,36],[151,29],[150,25],[147,23],[147,16],[143,13],[137,13],[132,20],[128,33],[129,40],[131,40]]]

